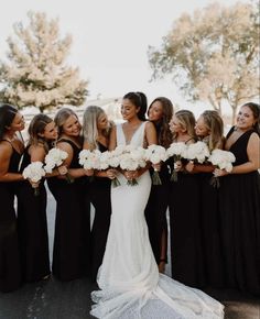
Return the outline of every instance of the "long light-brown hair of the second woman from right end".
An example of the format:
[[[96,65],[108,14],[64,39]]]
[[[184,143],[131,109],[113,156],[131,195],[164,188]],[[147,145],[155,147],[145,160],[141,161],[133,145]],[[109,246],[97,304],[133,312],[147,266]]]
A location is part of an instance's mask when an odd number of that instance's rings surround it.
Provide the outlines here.
[[[224,141],[224,123],[219,113],[215,110],[207,110],[202,113],[202,117],[209,131],[208,136],[205,136],[209,151],[221,147]]]

